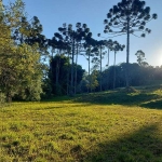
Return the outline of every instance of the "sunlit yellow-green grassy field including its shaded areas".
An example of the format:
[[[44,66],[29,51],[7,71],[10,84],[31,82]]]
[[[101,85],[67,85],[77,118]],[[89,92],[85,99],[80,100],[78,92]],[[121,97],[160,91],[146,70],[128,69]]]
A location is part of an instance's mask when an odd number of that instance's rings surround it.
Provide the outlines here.
[[[0,108],[0,162],[162,162],[162,86]]]

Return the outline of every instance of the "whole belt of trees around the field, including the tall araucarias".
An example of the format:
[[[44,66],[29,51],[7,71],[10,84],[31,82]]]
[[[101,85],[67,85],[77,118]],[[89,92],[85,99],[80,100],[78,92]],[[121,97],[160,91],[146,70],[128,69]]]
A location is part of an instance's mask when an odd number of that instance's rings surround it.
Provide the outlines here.
[[[40,100],[158,83],[162,80],[162,66],[149,65],[140,49],[135,53],[137,63],[130,63],[130,35],[150,33],[146,25],[151,19],[157,19],[157,14],[150,14],[145,1],[122,0],[109,10],[104,19],[104,32],[119,37],[125,33],[126,44],[102,40],[100,33],[95,40],[84,23],[76,23],[75,27],[65,23],[54,31],[54,37],[46,38],[39,17],[28,19],[22,0],[8,5],[1,1],[0,102]],[[117,65],[117,53],[124,49],[126,63]],[[109,65],[110,54],[112,66]],[[87,71],[79,65],[80,55],[87,60]],[[106,57],[107,66],[103,67]]]

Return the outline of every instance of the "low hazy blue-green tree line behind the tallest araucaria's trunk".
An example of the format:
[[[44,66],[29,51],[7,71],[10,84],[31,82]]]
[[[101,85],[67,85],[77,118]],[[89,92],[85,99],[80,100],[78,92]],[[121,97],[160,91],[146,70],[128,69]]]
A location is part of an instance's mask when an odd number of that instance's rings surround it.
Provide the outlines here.
[[[130,75],[129,82],[132,86],[150,85],[161,83],[162,81],[162,66],[140,66],[137,63],[129,64]],[[114,72],[116,71],[116,72]],[[103,91],[114,90],[116,87],[126,86],[126,64],[122,63],[117,66],[110,66],[102,72],[102,82],[99,79],[99,71],[94,70],[90,78],[84,76],[81,82],[81,92],[98,92],[100,84]]]

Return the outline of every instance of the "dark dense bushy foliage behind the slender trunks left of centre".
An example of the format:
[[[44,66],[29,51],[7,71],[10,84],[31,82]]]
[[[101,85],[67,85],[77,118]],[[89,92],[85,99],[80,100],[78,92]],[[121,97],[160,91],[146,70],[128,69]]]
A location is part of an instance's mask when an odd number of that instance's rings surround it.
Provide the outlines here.
[[[70,69],[70,62],[67,56],[64,54],[60,55],[55,55],[54,57],[51,58],[50,63],[50,71],[49,71],[49,77],[50,77],[50,84],[52,87],[52,94],[54,95],[66,95],[68,94],[68,87],[69,87],[69,81],[71,80],[71,71]],[[84,70],[80,65],[73,65],[76,70],[77,70],[77,86],[79,86]],[[73,79],[75,81],[75,79]]]

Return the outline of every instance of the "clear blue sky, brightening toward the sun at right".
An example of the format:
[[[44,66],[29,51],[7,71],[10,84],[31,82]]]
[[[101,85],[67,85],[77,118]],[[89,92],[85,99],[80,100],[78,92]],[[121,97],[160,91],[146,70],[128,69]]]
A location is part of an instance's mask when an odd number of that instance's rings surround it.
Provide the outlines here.
[[[38,16],[43,26],[43,35],[51,39],[54,32],[58,31],[64,23],[75,25],[80,22],[86,24],[93,33],[94,39],[100,39],[97,33],[108,38],[104,31],[104,19],[114,4],[121,0],[24,0],[28,18]],[[4,4],[14,0],[3,0]],[[146,0],[146,6],[150,6],[150,13],[157,13],[158,19],[149,22],[146,27],[151,29],[151,33],[146,38],[131,36],[130,63],[136,63],[135,53],[141,50],[145,53],[146,62],[151,66],[162,65],[162,0]],[[116,37],[112,40],[126,44],[126,36]],[[117,64],[126,62],[126,49],[118,52]],[[79,57],[79,63],[83,69],[87,70],[87,60]],[[106,68],[107,56],[104,58],[103,68]],[[110,53],[110,65],[113,64],[113,53]]]

